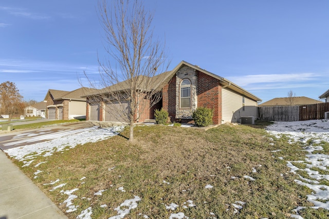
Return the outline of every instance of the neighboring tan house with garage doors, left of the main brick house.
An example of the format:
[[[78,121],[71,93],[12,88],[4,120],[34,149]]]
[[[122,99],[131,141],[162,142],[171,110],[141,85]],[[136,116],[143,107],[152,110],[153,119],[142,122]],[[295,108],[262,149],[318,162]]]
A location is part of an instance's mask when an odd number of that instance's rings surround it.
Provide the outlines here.
[[[86,98],[93,89],[79,88],[74,91],[49,89],[44,101],[47,101],[46,118],[53,120],[71,120],[85,118]]]

